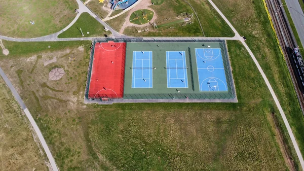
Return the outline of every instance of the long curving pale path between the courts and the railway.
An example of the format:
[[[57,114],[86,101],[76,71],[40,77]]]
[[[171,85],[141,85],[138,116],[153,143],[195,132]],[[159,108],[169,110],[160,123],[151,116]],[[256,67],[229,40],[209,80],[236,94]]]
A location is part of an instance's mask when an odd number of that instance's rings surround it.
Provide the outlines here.
[[[227,18],[223,15],[223,13],[221,13],[221,11],[215,6],[215,4],[214,4],[211,0],[208,0],[208,1],[209,1],[209,3],[213,6],[213,8],[215,8],[215,10],[220,14],[220,16],[225,20],[225,22],[230,26],[230,28],[235,32],[236,36],[239,38],[239,40],[240,40],[240,41],[242,42],[242,44],[245,46],[245,48],[246,48],[247,51],[249,52],[251,58],[253,59],[255,65],[257,66],[258,71],[259,71],[260,74],[262,75],[262,77],[263,77],[263,79],[264,79],[264,81],[265,81],[265,83],[266,83],[266,85],[267,85],[267,87],[268,87],[268,89],[269,89],[271,95],[273,96],[273,98],[274,98],[274,100],[275,100],[275,102],[276,102],[276,105],[277,105],[277,107],[278,107],[278,109],[279,109],[279,111],[280,111],[280,114],[281,114],[281,116],[282,116],[282,118],[283,118],[284,124],[285,124],[285,126],[286,126],[286,128],[287,128],[288,134],[289,134],[290,139],[291,139],[291,141],[292,141],[292,145],[293,145],[293,147],[294,147],[294,149],[295,149],[295,152],[296,152],[296,154],[297,154],[297,157],[298,157],[298,159],[299,159],[299,161],[300,161],[302,170],[304,170],[304,161],[303,161],[303,157],[302,157],[302,154],[301,154],[301,152],[300,152],[300,149],[299,149],[299,147],[298,147],[298,145],[297,145],[297,143],[296,143],[296,140],[295,140],[294,135],[293,135],[293,133],[292,133],[291,127],[290,127],[290,125],[289,125],[289,123],[288,123],[288,120],[287,120],[287,118],[286,118],[286,116],[285,116],[285,113],[284,113],[284,111],[283,111],[283,109],[282,109],[282,107],[281,107],[281,105],[280,105],[280,102],[279,102],[279,100],[278,100],[278,98],[277,98],[277,96],[276,96],[276,94],[275,94],[273,88],[271,87],[271,84],[270,84],[270,82],[268,81],[268,79],[267,79],[265,73],[263,72],[261,66],[259,65],[259,63],[258,63],[258,61],[256,60],[255,56],[253,55],[252,51],[249,49],[249,47],[248,47],[247,44],[245,43],[244,39],[239,35],[238,31],[237,31],[237,30],[234,28],[234,26],[229,22],[229,20],[227,20]]]

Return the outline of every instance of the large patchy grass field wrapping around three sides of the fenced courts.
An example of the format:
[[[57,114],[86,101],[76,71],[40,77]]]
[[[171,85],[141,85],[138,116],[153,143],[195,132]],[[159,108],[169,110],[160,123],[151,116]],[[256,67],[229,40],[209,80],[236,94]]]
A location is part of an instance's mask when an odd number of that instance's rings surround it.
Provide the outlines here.
[[[83,104],[90,43],[78,43],[35,55],[16,57],[10,53],[0,58],[60,170],[286,170],[268,119],[278,111],[253,61],[238,42],[227,45],[239,103],[110,106]],[[34,43],[16,44],[34,47]],[[79,48],[82,45],[85,50]],[[68,53],[76,57],[74,63],[62,57]],[[40,67],[30,74],[38,54],[43,56],[37,63]],[[43,67],[54,55],[57,62]],[[51,82],[47,74],[55,66],[63,67],[66,75]],[[23,69],[24,88],[19,84],[17,67]],[[63,92],[41,88],[43,83]],[[81,91],[74,95],[72,91],[79,86]],[[44,99],[49,96],[67,101]],[[40,112],[36,111],[39,105]]]

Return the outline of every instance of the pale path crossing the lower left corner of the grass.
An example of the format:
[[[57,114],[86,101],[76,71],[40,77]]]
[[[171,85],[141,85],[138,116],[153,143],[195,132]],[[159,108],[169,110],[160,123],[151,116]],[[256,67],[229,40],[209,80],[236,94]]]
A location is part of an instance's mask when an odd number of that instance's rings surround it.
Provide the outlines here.
[[[6,84],[8,85],[8,87],[10,88],[10,90],[12,91],[15,99],[18,101],[18,104],[20,105],[21,109],[24,111],[27,119],[29,120],[30,124],[32,125],[32,127],[34,128],[35,132],[36,132],[36,135],[37,137],[39,138],[41,144],[42,144],[42,147],[43,149],[45,150],[46,154],[47,154],[47,157],[51,163],[51,166],[52,166],[52,169],[53,171],[58,171],[58,167],[55,163],[55,160],[52,156],[52,153],[45,141],[45,139],[43,138],[43,135],[39,129],[39,127],[37,126],[34,118],[32,117],[32,115],[29,113],[28,109],[26,108],[23,100],[21,99],[20,95],[18,94],[18,92],[16,91],[15,87],[13,86],[13,84],[11,83],[11,81],[9,80],[9,78],[4,74],[3,70],[1,69],[0,67],[0,75],[1,77],[4,79],[4,81],[6,82]]]

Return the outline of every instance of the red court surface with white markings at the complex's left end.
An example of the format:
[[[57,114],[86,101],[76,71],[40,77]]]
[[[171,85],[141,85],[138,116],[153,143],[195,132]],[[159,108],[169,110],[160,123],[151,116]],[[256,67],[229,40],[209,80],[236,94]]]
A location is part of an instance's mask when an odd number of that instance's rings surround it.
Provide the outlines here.
[[[123,97],[125,60],[126,43],[95,44],[89,97]]]

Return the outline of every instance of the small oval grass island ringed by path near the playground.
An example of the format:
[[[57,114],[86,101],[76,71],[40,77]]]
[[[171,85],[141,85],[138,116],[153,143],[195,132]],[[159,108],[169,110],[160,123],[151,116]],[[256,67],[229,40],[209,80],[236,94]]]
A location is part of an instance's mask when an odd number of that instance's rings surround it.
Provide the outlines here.
[[[153,18],[153,15],[153,11],[150,10],[137,10],[131,14],[130,22],[138,25],[145,24]]]

